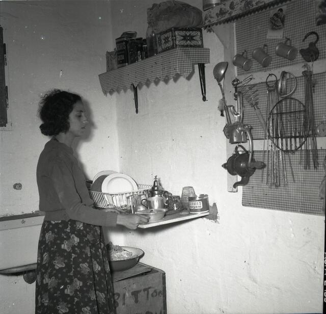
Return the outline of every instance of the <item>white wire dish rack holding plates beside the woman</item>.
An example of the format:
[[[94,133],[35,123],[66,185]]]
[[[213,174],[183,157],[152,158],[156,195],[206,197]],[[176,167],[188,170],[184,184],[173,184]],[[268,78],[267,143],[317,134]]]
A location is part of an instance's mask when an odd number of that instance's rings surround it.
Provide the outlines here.
[[[137,185],[138,190],[126,191],[120,193],[103,193],[89,191],[92,200],[94,201],[96,207],[100,208],[121,208],[125,209],[127,207],[127,197],[133,194],[142,195],[142,199],[149,196],[149,190],[152,188],[151,185],[139,184]]]

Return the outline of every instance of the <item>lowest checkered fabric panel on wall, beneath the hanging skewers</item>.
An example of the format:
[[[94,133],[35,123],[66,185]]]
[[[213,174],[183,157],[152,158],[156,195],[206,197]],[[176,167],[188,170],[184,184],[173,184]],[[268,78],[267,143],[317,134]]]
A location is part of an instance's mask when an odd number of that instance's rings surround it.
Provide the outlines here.
[[[284,212],[311,215],[324,215],[322,211],[324,199],[319,197],[320,185],[325,176],[322,166],[318,170],[304,169],[303,150],[285,156],[285,168],[288,184],[281,178],[280,187],[266,184],[266,169],[257,169],[250,177],[249,183],[242,189],[242,205],[267,208]],[[320,164],[324,160],[326,150],[318,150]],[[256,161],[266,159],[264,151],[254,151]],[[265,161],[266,162],[266,161]]]

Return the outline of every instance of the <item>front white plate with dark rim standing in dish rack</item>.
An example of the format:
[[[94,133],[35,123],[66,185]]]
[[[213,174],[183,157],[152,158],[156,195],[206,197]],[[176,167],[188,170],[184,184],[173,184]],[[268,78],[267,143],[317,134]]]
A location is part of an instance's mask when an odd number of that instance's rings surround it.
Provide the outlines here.
[[[102,182],[102,192],[109,194],[138,190],[137,183],[124,173],[112,173]]]

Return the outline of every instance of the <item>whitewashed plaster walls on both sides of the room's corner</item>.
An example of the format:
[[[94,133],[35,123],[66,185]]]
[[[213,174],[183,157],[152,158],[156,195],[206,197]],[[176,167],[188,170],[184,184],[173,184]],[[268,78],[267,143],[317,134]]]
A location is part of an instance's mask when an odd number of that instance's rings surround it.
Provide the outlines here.
[[[201,7],[199,0],[187,2]],[[12,131],[0,133],[0,214],[37,209],[35,168],[47,140],[38,130],[37,102],[45,90],[69,88],[91,105],[95,128],[76,147],[90,179],[100,170],[118,168],[151,184],[157,174],[165,189],[180,194],[192,185],[218,207],[217,221],[105,230],[107,240],[143,249],[142,261],[166,272],[169,313],[320,312],[322,217],[243,207],[241,188],[227,192],[221,167],[227,159],[225,120],[217,110],[221,94],[212,75],[224,49],[214,34],[203,32],[211,49],[208,101],[201,100],[196,67],[187,80],[140,88],[138,115],[131,90],[102,95],[97,74],[105,71],[105,51],[113,50],[124,31],[144,36],[152,3],[0,2],[9,39],[13,121]],[[12,189],[17,181],[21,191]],[[34,284],[0,275],[0,287],[0,312],[33,312]]]

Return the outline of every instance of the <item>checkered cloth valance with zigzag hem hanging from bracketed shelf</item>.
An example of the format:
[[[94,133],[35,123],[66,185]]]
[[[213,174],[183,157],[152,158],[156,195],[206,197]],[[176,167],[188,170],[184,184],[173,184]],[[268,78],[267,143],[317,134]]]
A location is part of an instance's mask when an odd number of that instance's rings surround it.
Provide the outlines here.
[[[187,77],[193,65],[209,63],[209,48],[177,47],[125,67],[99,74],[104,94],[137,86],[155,79],[172,79],[177,73]]]

